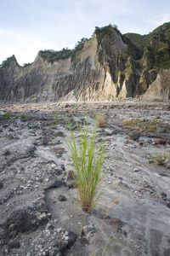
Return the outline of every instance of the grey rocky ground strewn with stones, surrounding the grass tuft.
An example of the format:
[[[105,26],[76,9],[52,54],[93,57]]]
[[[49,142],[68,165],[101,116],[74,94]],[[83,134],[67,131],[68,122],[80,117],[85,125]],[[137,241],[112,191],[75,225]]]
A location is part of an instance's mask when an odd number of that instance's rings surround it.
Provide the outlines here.
[[[105,115],[101,207],[90,214],[75,201],[70,111],[78,123],[88,115],[89,131]],[[1,103],[0,255],[102,255],[109,240],[105,255],[169,256],[169,122],[166,102]]]

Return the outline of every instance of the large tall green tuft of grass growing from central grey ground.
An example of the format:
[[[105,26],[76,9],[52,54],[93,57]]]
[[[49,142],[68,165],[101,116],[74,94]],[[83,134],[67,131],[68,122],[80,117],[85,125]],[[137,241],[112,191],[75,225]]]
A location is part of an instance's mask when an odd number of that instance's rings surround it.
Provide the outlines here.
[[[96,147],[96,129],[89,134],[88,118],[83,125],[78,126],[78,140],[76,140],[71,121],[67,118],[71,139],[69,148],[71,160],[74,164],[78,202],[82,210],[91,212],[99,201],[99,183],[105,163],[105,145]]]

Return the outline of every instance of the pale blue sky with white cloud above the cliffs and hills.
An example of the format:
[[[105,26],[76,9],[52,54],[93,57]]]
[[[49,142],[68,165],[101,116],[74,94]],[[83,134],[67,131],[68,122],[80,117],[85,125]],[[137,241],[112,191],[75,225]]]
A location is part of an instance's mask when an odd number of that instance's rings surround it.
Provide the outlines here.
[[[41,49],[72,49],[95,26],[148,34],[168,21],[169,0],[1,0],[0,63],[15,55],[23,65]]]

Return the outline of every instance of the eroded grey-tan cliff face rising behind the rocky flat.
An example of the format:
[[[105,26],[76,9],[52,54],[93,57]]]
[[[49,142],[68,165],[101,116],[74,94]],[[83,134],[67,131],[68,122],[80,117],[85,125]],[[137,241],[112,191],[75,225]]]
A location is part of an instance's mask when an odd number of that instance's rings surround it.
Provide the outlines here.
[[[161,45],[155,40],[159,44],[150,37],[139,49],[128,36],[105,26],[96,27],[94,36],[79,42],[74,51],[40,51],[27,67],[20,67],[13,55],[0,68],[0,99],[39,102],[142,95],[168,100],[169,69],[156,67],[153,60],[150,64],[150,48],[155,56]]]

